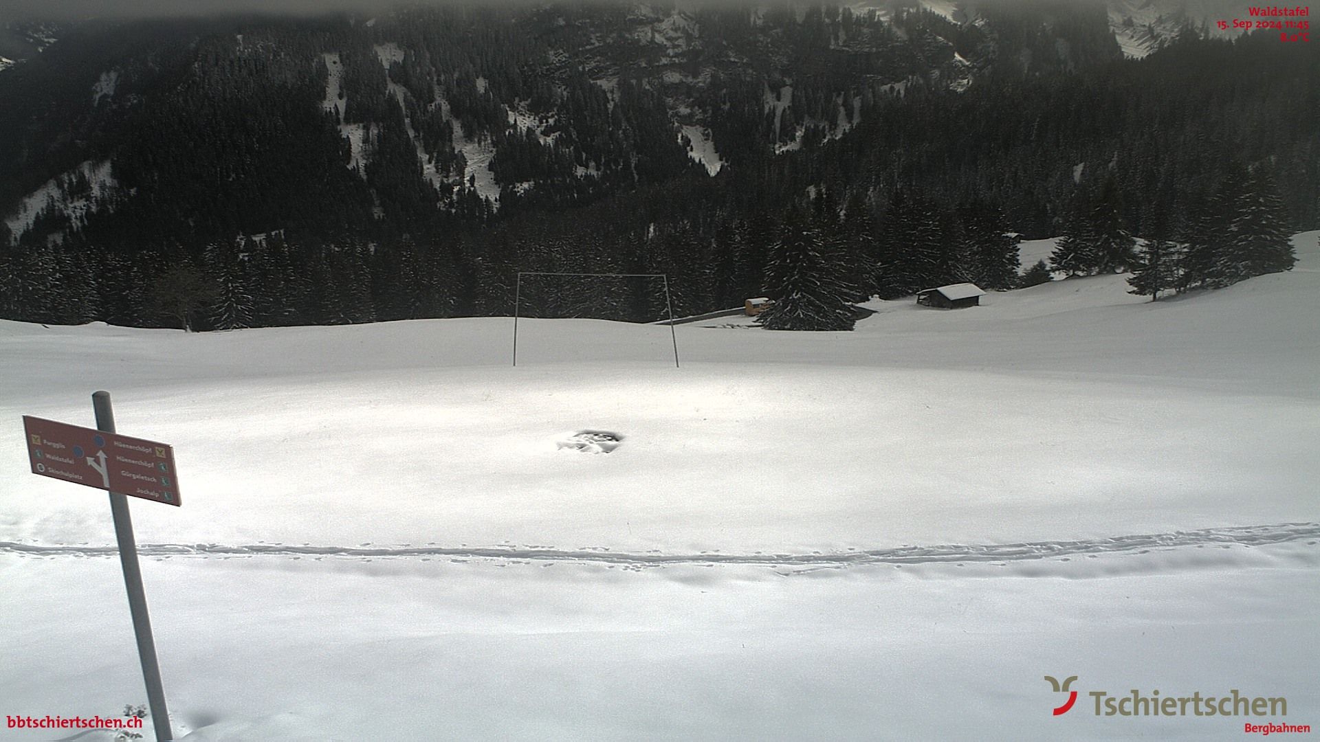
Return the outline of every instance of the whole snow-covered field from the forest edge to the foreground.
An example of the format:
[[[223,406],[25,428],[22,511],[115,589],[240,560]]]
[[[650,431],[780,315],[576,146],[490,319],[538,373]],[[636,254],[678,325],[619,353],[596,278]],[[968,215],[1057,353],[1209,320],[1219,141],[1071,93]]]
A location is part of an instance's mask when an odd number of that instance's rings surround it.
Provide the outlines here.
[[[669,327],[599,321],[521,321],[516,368],[504,318],[0,322],[0,713],[145,701],[106,498],[29,474],[18,422],[91,425],[104,388],[176,446],[183,506],[132,508],[190,742],[1320,724],[1316,236],[1158,304],[1104,276],[854,333],[681,325],[681,368]],[[1288,716],[1096,716],[1101,689]]]

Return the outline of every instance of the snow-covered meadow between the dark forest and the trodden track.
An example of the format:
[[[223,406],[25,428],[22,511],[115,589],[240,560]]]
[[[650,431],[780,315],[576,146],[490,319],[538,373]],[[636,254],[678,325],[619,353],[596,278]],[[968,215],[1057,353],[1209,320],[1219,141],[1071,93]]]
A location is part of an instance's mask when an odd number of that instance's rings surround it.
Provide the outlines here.
[[[148,543],[840,551],[1316,519],[1320,273],[1150,304],[1122,276],[854,333],[473,318],[183,334],[0,325],[0,411],[172,442]],[[557,442],[624,437],[610,455]],[[21,426],[0,466],[26,469]],[[7,478],[8,540],[112,543]]]

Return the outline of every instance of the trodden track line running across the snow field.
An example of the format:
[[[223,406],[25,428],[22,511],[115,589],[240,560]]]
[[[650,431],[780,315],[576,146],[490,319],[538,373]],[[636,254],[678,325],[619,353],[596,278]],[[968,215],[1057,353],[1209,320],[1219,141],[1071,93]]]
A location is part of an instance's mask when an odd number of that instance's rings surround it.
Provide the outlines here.
[[[458,557],[510,561],[543,562],[599,562],[636,568],[665,565],[763,565],[763,566],[814,566],[846,568],[873,564],[940,564],[940,562],[1007,562],[1031,561],[1072,556],[1102,553],[1147,553],[1150,551],[1171,551],[1204,548],[1216,545],[1262,547],[1302,541],[1313,545],[1320,541],[1320,523],[1279,523],[1272,525],[1242,525],[1232,528],[1206,528],[1201,531],[1175,531],[1171,533],[1140,533],[1133,536],[1110,536],[1105,539],[1085,539],[1078,541],[1027,541],[1018,544],[940,544],[933,547],[895,547],[887,549],[812,552],[805,555],[766,553],[726,555],[718,551],[696,555],[665,555],[660,552],[627,553],[611,552],[605,547],[581,547],[576,551],[549,547],[318,547],[289,544],[139,544],[141,556],[331,556],[331,557]],[[0,553],[20,556],[111,556],[115,547],[91,545],[42,545],[0,541]]]

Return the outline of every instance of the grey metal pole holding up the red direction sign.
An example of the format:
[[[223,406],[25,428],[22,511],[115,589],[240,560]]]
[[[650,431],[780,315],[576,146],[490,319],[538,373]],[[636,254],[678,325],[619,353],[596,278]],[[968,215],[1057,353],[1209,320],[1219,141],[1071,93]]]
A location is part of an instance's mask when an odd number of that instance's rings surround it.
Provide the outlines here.
[[[96,428],[115,432],[115,411],[110,407],[110,392],[91,395],[96,411]],[[104,466],[104,461],[102,462]],[[133,615],[133,634],[137,636],[137,655],[143,661],[143,680],[147,681],[147,702],[152,709],[157,742],[173,742],[165,708],[165,689],[161,687],[161,668],[156,661],[156,642],[152,639],[152,619],[147,614],[147,593],[143,590],[143,572],[137,566],[137,543],[133,540],[133,522],[128,515],[128,498],[110,492],[110,512],[115,519],[115,537],[119,540],[119,561],[124,566],[124,586],[128,588],[128,610]]]

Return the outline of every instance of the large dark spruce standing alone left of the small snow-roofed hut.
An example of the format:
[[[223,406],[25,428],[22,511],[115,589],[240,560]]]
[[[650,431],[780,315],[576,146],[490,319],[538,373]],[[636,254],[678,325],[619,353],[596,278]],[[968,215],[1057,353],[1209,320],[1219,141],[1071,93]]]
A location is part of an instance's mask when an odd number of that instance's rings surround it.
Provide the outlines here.
[[[851,330],[857,310],[849,297],[846,260],[825,244],[807,217],[792,211],[771,244],[766,285],[775,304],[756,316],[767,330]]]

